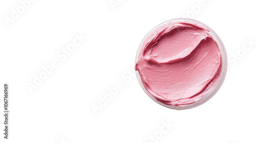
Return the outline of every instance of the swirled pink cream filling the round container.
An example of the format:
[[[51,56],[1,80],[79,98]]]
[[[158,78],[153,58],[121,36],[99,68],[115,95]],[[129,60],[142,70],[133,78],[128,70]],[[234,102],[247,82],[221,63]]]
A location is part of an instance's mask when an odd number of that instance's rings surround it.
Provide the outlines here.
[[[135,70],[145,89],[166,105],[200,101],[215,87],[222,56],[209,30],[193,21],[171,21],[144,40]]]

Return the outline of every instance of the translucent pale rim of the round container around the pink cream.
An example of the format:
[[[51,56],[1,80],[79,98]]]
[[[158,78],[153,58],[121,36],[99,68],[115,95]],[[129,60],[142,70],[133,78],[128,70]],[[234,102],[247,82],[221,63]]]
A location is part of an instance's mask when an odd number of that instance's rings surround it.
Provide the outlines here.
[[[143,38],[143,40],[141,41],[140,45],[139,45],[139,48],[138,48],[138,51],[137,51],[137,55],[136,55],[136,59],[135,59],[135,64],[137,63],[137,61],[139,60],[139,53],[140,53],[140,50],[141,50],[141,47],[145,41],[145,39],[148,37],[148,35],[150,35],[154,30],[156,30],[158,27],[162,26],[162,25],[165,25],[166,23],[168,22],[182,22],[182,21],[192,21],[192,22],[196,22],[196,23],[199,23],[200,25],[203,25],[205,26],[206,28],[208,28],[210,31],[208,32],[213,38],[214,40],[217,42],[218,46],[219,46],[219,50],[221,52],[221,56],[222,56],[222,69],[221,69],[221,75],[220,75],[220,78],[217,82],[217,84],[215,85],[214,88],[212,88],[211,91],[209,91],[207,94],[205,94],[205,96],[199,100],[198,102],[195,102],[193,104],[187,104],[187,105],[178,105],[178,106],[174,106],[174,105],[166,105],[160,101],[158,101],[157,99],[155,99],[155,97],[153,97],[147,90],[146,88],[144,87],[141,79],[140,79],[140,75],[139,75],[139,72],[136,70],[136,76],[137,76],[137,79],[139,81],[139,84],[140,86],[142,87],[142,89],[145,91],[145,93],[147,94],[148,97],[150,97],[152,100],[154,100],[156,103],[164,106],[164,107],[167,107],[167,108],[171,108],[171,109],[176,109],[176,110],[183,110],[183,109],[190,109],[190,108],[194,108],[194,107],[197,107],[199,105],[202,105],[203,103],[205,103],[206,101],[208,101],[210,98],[212,98],[216,93],[217,91],[220,89],[220,87],[222,86],[223,82],[224,82],[224,79],[225,79],[225,76],[226,76],[226,72],[227,72],[227,53],[226,53],[226,50],[225,50],[225,47],[224,47],[224,44],[223,42],[221,41],[220,37],[211,29],[209,28],[208,26],[206,26],[204,23],[200,22],[200,21],[197,21],[197,20],[194,20],[194,19],[190,19],[190,18],[175,18],[175,19],[170,19],[170,20],[167,20],[167,21],[164,21],[162,23],[160,23],[158,26],[156,26],[155,28],[153,28],[150,32],[148,32],[146,34],[146,36]]]

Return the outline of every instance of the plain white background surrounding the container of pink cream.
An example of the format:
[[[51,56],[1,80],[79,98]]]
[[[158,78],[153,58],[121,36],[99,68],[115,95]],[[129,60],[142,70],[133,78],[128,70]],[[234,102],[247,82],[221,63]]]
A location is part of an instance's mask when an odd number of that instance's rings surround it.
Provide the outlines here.
[[[9,24],[22,4],[0,2],[0,86],[10,86],[9,139],[1,91],[0,142],[256,142],[256,43],[243,49],[256,41],[253,1],[110,2],[36,0]],[[229,71],[212,99],[178,111],[151,100],[129,71],[146,33],[184,15],[220,36]],[[87,39],[61,61],[57,53],[80,33]],[[54,60],[58,67],[30,92],[27,84]],[[95,112],[116,84],[122,89]],[[174,126],[159,133],[167,122]]]

